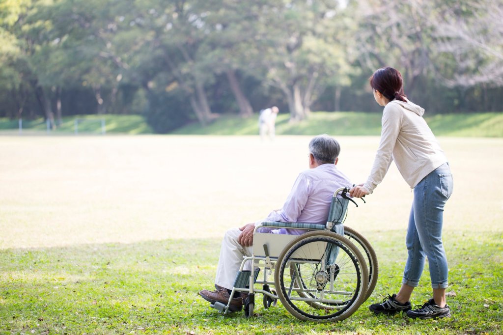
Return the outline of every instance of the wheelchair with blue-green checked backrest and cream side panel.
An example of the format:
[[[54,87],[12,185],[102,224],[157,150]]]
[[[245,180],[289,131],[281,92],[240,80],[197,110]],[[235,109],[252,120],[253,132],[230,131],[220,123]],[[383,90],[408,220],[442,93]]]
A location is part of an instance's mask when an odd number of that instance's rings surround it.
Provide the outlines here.
[[[255,228],[253,254],[243,259],[230,294],[247,294],[246,318],[254,315],[257,293],[263,294],[265,308],[280,300],[296,318],[316,322],[344,320],[372,294],[379,272],[374,249],[357,231],[343,226],[348,203],[358,207],[347,196],[349,190],[334,192],[326,224],[266,221]],[[306,232],[261,233],[261,227]],[[229,305],[230,299],[227,305],[215,302],[210,306],[227,314]]]

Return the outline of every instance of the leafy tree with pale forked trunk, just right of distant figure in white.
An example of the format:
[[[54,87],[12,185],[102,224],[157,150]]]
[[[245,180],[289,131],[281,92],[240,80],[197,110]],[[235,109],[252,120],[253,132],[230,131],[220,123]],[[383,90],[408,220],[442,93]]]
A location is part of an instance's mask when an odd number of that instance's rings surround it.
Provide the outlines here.
[[[344,75],[343,9],[338,1],[270,1],[251,9],[255,35],[243,59],[283,92],[291,121],[302,120],[330,78]]]

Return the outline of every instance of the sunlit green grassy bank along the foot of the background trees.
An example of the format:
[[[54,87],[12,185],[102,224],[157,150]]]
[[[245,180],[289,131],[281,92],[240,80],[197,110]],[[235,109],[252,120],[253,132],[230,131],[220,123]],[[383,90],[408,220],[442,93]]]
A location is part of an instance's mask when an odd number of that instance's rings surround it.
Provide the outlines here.
[[[88,115],[76,116],[81,119],[106,119],[107,133],[145,134],[151,128],[139,115]],[[75,117],[63,118],[56,133],[74,131]],[[503,113],[437,114],[425,116],[426,121],[438,136],[503,137]],[[43,119],[25,121],[25,131],[46,130]],[[0,130],[15,132],[17,120],[0,119]],[[79,125],[80,133],[100,133],[99,122],[86,122]],[[380,135],[381,113],[363,112],[314,112],[307,120],[289,122],[288,114],[280,114],[276,122],[279,135],[317,135],[328,133],[341,135]],[[256,135],[258,134],[257,115],[241,118],[235,115],[222,115],[213,123],[202,127],[194,122],[172,132],[184,135]]]

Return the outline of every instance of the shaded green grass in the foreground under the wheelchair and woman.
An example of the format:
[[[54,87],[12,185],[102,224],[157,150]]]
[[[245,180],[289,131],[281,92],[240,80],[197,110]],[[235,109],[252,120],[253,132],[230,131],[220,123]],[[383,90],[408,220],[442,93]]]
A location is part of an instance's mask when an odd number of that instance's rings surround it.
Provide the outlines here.
[[[299,321],[278,303],[256,315],[221,315],[198,291],[211,288],[218,239],[171,239],[0,251],[0,333],[176,334],[498,334],[503,331],[501,233],[450,233],[450,319],[374,316],[367,309],[396,291],[403,267],[403,231],[367,234],[381,274],[373,296],[339,323]],[[396,242],[395,242],[396,240]],[[461,242],[462,240],[462,242]],[[399,255],[400,257],[397,257]],[[397,261],[398,260],[398,261]],[[428,270],[412,303],[430,297]],[[203,284],[202,284],[203,283]],[[192,331],[192,332],[191,332]]]

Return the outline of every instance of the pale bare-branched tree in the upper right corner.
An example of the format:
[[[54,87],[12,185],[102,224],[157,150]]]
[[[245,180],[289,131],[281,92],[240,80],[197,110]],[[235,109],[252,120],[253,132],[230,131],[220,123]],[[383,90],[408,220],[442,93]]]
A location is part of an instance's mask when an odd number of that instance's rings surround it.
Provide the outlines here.
[[[503,86],[503,4],[436,4],[435,65],[449,87]]]

